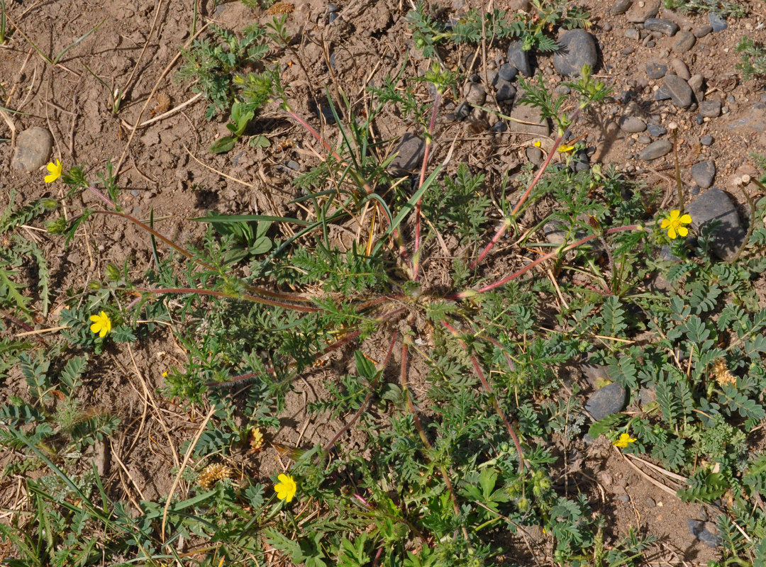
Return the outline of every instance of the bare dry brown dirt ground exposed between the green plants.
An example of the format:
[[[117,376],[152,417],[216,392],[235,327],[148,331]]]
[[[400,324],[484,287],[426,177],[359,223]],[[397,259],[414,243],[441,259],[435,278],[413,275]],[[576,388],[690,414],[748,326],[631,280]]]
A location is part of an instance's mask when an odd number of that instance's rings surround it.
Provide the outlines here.
[[[499,0],[494,7],[513,9],[519,5],[508,2]],[[635,3],[638,5],[639,0]],[[647,186],[673,191],[673,171],[668,167],[673,154],[656,161],[641,161],[637,154],[646,141],[638,138],[645,132],[622,132],[617,120],[631,114],[665,127],[675,122],[679,127],[682,178],[689,197],[695,194],[690,165],[712,159],[718,170],[715,186],[729,189],[733,197],[742,199],[730,180],[738,168],[748,166],[750,152],[766,148],[766,112],[757,106],[764,96],[759,91],[763,83],[743,81],[735,69],[739,60],[735,44],[742,35],[764,39],[761,28],[766,4],[756,0],[743,3],[750,8],[748,18],[730,19],[724,31],[704,34],[688,51],[677,53],[674,37],[653,34],[647,38],[644,31],[637,38],[633,32],[626,35],[637,25],[624,14],[612,14],[613,2],[573,2],[591,12],[590,31],[597,38],[601,55],[597,77],[614,86],[614,98],[573,127],[575,135],[587,136],[588,145],[595,148],[591,161],[614,164]],[[365,96],[365,86],[400,70],[412,44],[405,21],[411,6],[394,0],[350,0],[339,5],[339,19],[329,24],[328,7],[322,0],[296,0],[291,4],[293,11],[287,22],[295,34],[295,50],[276,55],[283,69],[283,83],[289,86],[287,94],[296,112],[308,117],[329,139],[336,140],[337,130],[320,123],[313,105],[325,96],[326,85],[331,89],[342,87],[360,100]],[[482,8],[474,0],[467,4]],[[289,215],[286,202],[298,195],[290,181],[318,163],[322,148],[273,106],[260,112],[254,124],[257,132],[270,138],[269,148],[255,149],[240,143],[228,154],[212,155],[207,152],[208,146],[228,133],[224,117],[206,120],[204,101],[195,97],[187,83],[174,80],[179,47],[190,41],[193,26],[199,30],[203,24],[214,22],[240,31],[252,21],[270,21],[270,16],[241,2],[214,5],[207,0],[198,5],[196,21],[191,2],[57,0],[6,5],[18,33],[0,46],[0,106],[23,114],[6,113],[10,122],[0,121],[0,136],[8,138],[0,142],[0,210],[8,203],[11,189],[18,192],[21,203],[64,194],[61,184],[44,184],[44,168],[32,172],[11,168],[12,123],[15,134],[31,126],[48,129],[54,138],[53,158],[60,158],[65,169],[84,165],[94,179],[95,172],[103,171],[107,160],[111,160],[117,167],[123,207],[142,219],[153,210],[155,226],[182,241],[194,238],[200,230],[188,219],[208,210]],[[450,5],[446,8],[453,9]],[[460,6],[460,10],[465,8]],[[698,31],[708,23],[706,15],[680,15],[664,8],[660,9],[660,17],[675,21],[681,30]],[[96,31],[67,51],[55,67],[31,45],[34,43],[44,54],[57,54],[98,24]],[[201,37],[207,33],[202,31]],[[490,70],[506,48],[507,42],[499,42],[489,50]],[[451,51],[445,63],[461,70],[459,62],[469,51],[467,47]],[[333,64],[329,65],[331,54]],[[421,75],[428,61],[414,52],[409,57],[405,75]],[[670,63],[674,58],[682,60],[690,74],[704,77],[705,99],[720,100],[727,113],[698,121],[693,109],[676,110],[653,99],[660,81],[647,76],[647,62],[658,60],[677,68],[677,63],[673,64],[676,67]],[[561,82],[551,56],[538,54],[534,63],[550,86]],[[119,114],[110,108],[110,93],[115,88],[125,93]],[[425,86],[421,94],[427,96]],[[487,104],[492,102],[490,97]],[[454,140],[452,163],[466,162],[487,175],[487,187],[496,186],[503,172],[516,171],[527,160],[525,150],[532,136],[493,132],[477,126],[475,121],[450,120],[447,115],[457,103],[460,99],[447,99],[440,113],[433,163],[444,160]],[[156,120],[147,123],[152,119]],[[493,122],[489,121],[489,125]],[[378,125],[380,139],[391,140],[389,149],[406,132],[419,133],[415,125],[402,122],[393,113]],[[700,143],[704,135],[712,136],[712,145]],[[299,171],[284,167],[286,161],[296,161]],[[64,205],[76,211],[83,205],[93,206],[95,200],[92,194],[83,193],[74,200],[65,200]],[[147,234],[119,219],[94,218],[68,247],[63,238],[38,230],[22,229],[21,233],[44,249],[55,283],[54,307],[47,320],[37,321],[38,327],[56,326],[65,290],[82,289],[90,279],[103,279],[108,262],[121,266],[127,260],[129,275],[136,280],[149,266]],[[157,393],[162,386],[162,372],[182,359],[172,335],[159,332],[151,340],[136,344],[133,350],[108,351],[88,375],[82,396],[85,404],[118,415],[123,422],[121,436],[112,439],[107,448],[100,448],[97,455],[106,463],[104,484],[113,497],[135,502],[167,494],[173,480],[171,469],[178,464],[178,445],[195,435],[204,417]],[[312,377],[309,382],[313,382]],[[306,399],[311,399],[313,384],[309,382],[305,386],[298,384],[298,392],[290,399],[293,409],[284,416],[283,429],[271,432],[273,440],[308,445],[325,442],[342,425],[307,421],[302,407]],[[12,376],[0,390],[0,397],[21,390],[21,378]],[[615,533],[626,533],[630,526],[637,526],[642,533],[658,536],[661,545],[647,561],[705,564],[715,557],[715,550],[692,536],[686,525],[689,519],[706,520],[706,510],[681,503],[673,494],[650,483],[646,474],[608,445],[578,445],[575,449],[568,469],[558,479],[561,490],[569,494],[586,491],[594,509],[607,517]],[[243,455],[243,459],[248,474],[264,478],[280,466],[273,448],[257,457]],[[12,479],[2,481],[0,506],[8,502],[12,486]]]

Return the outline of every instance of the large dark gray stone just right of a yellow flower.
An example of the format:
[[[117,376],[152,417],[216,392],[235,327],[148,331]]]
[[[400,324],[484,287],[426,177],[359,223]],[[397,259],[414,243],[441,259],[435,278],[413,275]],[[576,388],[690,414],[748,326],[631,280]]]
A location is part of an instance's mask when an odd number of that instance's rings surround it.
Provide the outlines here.
[[[692,217],[692,229],[698,234],[718,221],[712,232],[711,249],[720,259],[728,261],[734,258],[745,240],[745,229],[727,194],[720,189],[709,189],[692,200],[686,212]]]

